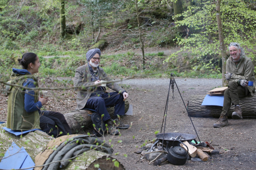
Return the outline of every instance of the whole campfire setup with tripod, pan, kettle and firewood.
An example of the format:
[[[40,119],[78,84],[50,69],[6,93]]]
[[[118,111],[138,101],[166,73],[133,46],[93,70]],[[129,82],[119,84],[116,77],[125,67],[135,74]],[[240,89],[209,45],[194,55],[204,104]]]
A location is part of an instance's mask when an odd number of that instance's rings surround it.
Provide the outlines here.
[[[171,73],[170,84],[169,84],[169,92],[170,88],[172,88],[172,99],[174,99],[174,85],[176,84],[174,79],[174,74]],[[177,87],[177,84],[176,84]],[[178,87],[177,90],[179,91]],[[195,129],[196,135],[188,134],[188,133],[165,133],[166,127],[166,117],[169,103],[169,92],[166,100],[166,108],[163,116],[163,123],[161,127],[161,132],[156,135],[157,139],[155,139],[154,144],[149,143],[145,147],[142,147],[135,153],[140,153],[145,159],[150,161],[149,163],[154,162],[154,165],[159,165],[165,161],[169,161],[171,164],[175,165],[183,165],[187,160],[189,161],[207,161],[211,158],[210,155],[219,153],[214,150],[214,148],[209,144],[209,142],[201,142],[199,136],[196,132],[195,126],[191,120],[191,123]],[[180,91],[179,91],[180,93]],[[182,99],[182,96],[180,94]],[[183,99],[182,99],[183,101]],[[186,108],[186,105],[183,101],[183,104]],[[188,104],[187,104],[188,105]],[[186,108],[187,111],[187,108]],[[189,115],[189,114],[188,114]],[[198,137],[199,142],[195,139]]]

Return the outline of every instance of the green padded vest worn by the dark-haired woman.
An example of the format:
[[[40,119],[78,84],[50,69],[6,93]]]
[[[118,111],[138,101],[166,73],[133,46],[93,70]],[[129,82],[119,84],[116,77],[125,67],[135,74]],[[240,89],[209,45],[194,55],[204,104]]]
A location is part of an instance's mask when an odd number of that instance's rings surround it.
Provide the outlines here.
[[[37,78],[31,74],[20,75],[12,73],[11,75],[10,84],[21,86],[12,86],[9,89],[7,128],[12,130],[41,129],[39,126],[40,115],[38,111],[28,113],[24,108],[25,91],[22,85],[26,79],[34,79],[36,83],[35,86],[38,87]],[[38,91],[35,91],[35,102],[38,102]]]

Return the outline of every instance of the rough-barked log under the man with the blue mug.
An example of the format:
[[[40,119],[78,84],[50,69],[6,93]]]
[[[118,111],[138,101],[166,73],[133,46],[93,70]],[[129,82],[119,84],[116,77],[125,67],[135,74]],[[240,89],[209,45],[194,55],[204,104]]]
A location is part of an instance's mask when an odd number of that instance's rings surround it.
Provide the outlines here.
[[[202,106],[205,96],[189,96],[188,113],[192,117],[216,117],[221,115],[222,106]],[[256,118],[256,95],[239,99],[242,108],[243,118]],[[232,117],[234,105],[227,113],[228,118]]]

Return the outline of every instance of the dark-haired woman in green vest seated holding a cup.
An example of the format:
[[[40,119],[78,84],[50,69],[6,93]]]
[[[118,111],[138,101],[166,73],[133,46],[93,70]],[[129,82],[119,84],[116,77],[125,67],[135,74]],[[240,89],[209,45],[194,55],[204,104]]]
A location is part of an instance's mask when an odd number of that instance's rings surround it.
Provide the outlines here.
[[[57,137],[71,134],[63,114],[54,111],[41,111],[48,98],[38,97],[38,91],[27,88],[38,87],[38,80],[33,74],[38,73],[40,61],[35,53],[25,53],[18,59],[23,69],[12,68],[9,89],[7,128],[12,130],[41,129],[50,136]],[[22,88],[26,87],[26,88]]]

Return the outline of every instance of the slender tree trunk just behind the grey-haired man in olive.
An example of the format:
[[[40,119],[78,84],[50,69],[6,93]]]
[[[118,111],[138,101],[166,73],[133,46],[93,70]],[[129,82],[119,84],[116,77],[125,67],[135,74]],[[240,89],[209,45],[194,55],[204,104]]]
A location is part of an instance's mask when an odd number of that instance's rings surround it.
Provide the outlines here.
[[[216,0],[215,3],[216,3],[216,19],[218,24],[218,34],[219,34],[221,57],[222,57],[222,86],[225,87],[227,85],[227,81],[225,81],[226,49],[224,45],[223,26],[221,21],[221,0]]]

